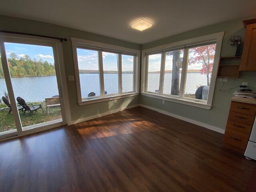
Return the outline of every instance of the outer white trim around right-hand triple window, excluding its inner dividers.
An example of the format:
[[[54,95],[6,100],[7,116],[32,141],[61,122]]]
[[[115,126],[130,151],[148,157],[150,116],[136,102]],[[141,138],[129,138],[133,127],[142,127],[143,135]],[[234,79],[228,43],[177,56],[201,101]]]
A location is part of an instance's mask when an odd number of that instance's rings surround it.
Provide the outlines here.
[[[217,77],[217,71],[218,71],[218,64],[220,60],[220,50],[222,45],[222,38],[224,36],[224,32],[218,32],[210,35],[205,35],[201,37],[191,38],[187,40],[182,40],[178,42],[173,42],[170,44],[165,44],[161,46],[157,46],[154,48],[149,48],[142,50],[142,70],[141,70],[141,95],[166,100],[170,102],[176,102],[180,104],[190,105],[194,107],[204,108],[204,109],[210,109],[212,107],[212,100],[213,100],[213,94],[214,94],[214,87],[216,83],[216,77]],[[208,100],[199,100],[199,99],[191,99],[191,98],[180,98],[179,96],[172,96],[172,95],[160,95],[158,93],[152,93],[147,91],[147,79],[148,79],[148,57],[146,56],[146,53],[148,52],[157,52],[159,50],[164,49],[170,49],[175,48],[179,46],[183,46],[186,44],[200,44],[200,42],[206,42],[206,41],[216,41],[216,49],[215,49],[215,56],[214,56],[214,64],[212,68],[212,76],[211,76],[211,82],[210,82],[210,88],[208,93]],[[183,69],[182,69],[183,70]],[[183,73],[184,74],[184,73]],[[184,76],[184,75],[182,75]],[[162,80],[163,81],[163,80]],[[182,84],[185,83],[184,77],[182,78]],[[160,80],[161,82],[161,80]]]

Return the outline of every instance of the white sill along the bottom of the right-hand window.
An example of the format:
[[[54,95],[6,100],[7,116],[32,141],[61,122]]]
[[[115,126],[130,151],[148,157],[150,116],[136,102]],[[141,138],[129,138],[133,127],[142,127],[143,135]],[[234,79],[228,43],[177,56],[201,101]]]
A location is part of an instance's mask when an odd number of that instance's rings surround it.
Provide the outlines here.
[[[146,96],[146,97],[160,99],[160,100],[180,103],[180,104],[184,104],[184,105],[199,107],[199,108],[203,108],[203,109],[212,108],[211,105],[208,105],[205,102],[202,102],[200,100],[196,101],[196,100],[186,100],[186,99],[183,99],[183,98],[170,98],[170,97],[167,97],[167,96],[156,95],[156,94],[152,94],[152,93],[141,93],[141,95]]]

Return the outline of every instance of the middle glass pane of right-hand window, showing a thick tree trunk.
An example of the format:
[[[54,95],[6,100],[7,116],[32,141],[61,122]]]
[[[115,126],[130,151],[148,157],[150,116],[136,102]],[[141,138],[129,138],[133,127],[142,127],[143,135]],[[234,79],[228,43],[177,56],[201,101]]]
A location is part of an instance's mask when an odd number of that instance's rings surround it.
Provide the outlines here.
[[[183,50],[166,52],[163,94],[179,95]]]

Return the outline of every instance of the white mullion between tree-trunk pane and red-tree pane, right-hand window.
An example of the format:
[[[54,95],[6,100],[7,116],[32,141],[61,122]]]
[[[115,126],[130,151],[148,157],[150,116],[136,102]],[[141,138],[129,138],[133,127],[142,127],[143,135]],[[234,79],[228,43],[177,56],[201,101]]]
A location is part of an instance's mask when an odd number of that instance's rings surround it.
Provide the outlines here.
[[[184,97],[187,70],[188,70],[188,49],[184,49],[182,72],[181,72],[181,79],[180,79],[180,94],[179,94],[180,98]]]

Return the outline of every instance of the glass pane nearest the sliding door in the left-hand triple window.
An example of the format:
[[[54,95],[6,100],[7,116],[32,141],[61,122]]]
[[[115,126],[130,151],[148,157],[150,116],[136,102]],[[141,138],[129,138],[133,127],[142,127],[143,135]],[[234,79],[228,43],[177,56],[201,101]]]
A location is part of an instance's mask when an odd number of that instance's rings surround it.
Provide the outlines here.
[[[100,96],[98,51],[77,48],[82,98]]]

